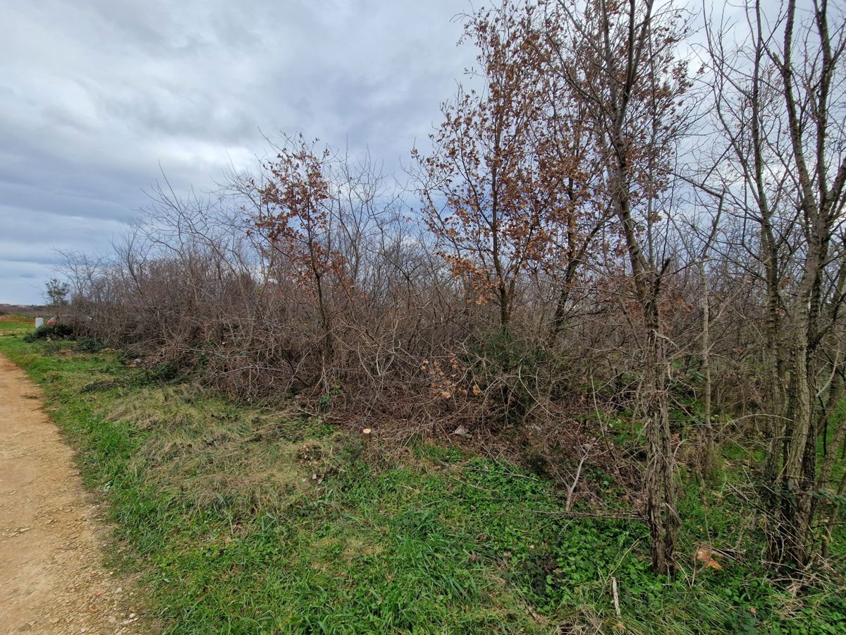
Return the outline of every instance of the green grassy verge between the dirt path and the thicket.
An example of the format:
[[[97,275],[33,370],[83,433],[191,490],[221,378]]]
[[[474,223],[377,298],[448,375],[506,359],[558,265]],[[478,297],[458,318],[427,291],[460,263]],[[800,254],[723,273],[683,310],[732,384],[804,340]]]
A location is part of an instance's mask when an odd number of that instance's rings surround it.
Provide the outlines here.
[[[846,624],[842,589],[793,598],[757,564],[761,536],[728,469],[704,499],[685,481],[683,572],[667,581],[650,572],[640,522],[564,517],[551,483],[519,467],[423,443],[403,461],[368,460],[358,439],[321,420],[162,383],[114,352],[17,336],[0,338],[0,351],[44,389],[114,522],[120,565],[141,573],[167,632],[833,633]],[[694,573],[704,542],[737,555]]]

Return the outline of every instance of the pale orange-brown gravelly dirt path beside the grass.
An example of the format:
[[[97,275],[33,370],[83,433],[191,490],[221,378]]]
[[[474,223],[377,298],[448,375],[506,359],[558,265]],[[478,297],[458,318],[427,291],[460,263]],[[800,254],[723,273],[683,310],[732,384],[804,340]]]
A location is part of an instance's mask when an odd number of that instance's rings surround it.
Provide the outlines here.
[[[41,394],[0,356],[0,633],[144,632]]]

